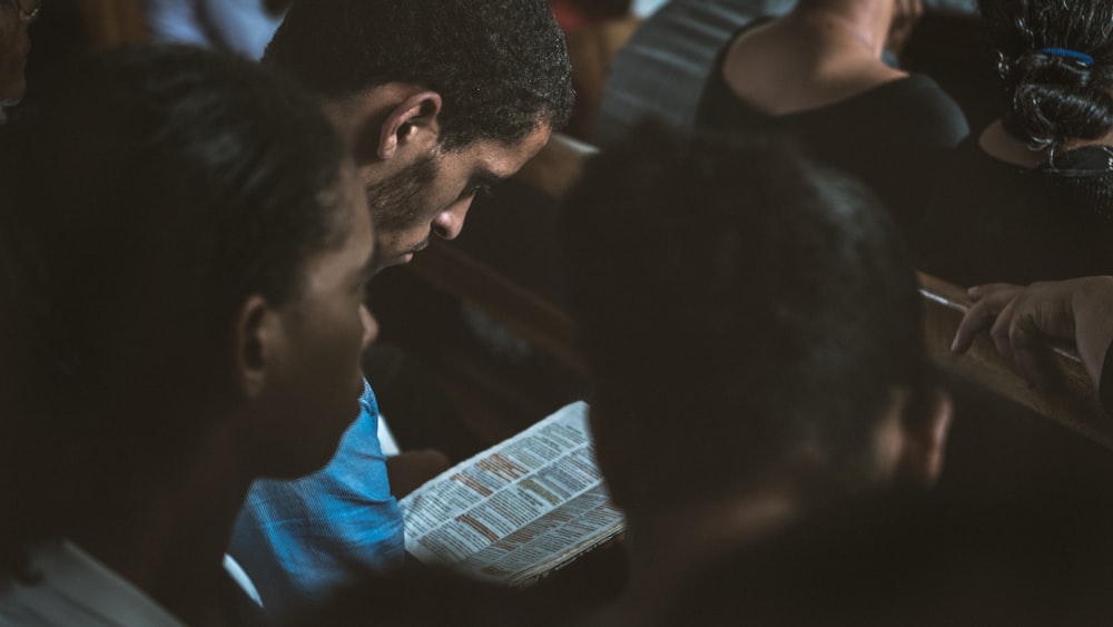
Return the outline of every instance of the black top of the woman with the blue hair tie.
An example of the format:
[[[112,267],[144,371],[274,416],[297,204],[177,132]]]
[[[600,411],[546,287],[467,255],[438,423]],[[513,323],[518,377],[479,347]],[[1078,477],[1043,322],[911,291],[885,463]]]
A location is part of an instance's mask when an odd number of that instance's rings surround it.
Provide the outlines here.
[[[959,285],[1113,274],[1113,148],[1026,169],[971,137],[935,180],[914,241],[922,270]]]

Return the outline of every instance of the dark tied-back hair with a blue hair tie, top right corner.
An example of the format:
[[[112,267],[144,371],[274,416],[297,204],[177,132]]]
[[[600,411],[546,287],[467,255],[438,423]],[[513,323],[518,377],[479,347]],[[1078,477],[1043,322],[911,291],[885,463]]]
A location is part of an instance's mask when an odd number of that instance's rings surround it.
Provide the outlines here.
[[[1106,0],[978,0],[1001,53],[1002,124],[1037,148],[1113,129],[1113,3]],[[1093,62],[1048,49],[1089,56]]]

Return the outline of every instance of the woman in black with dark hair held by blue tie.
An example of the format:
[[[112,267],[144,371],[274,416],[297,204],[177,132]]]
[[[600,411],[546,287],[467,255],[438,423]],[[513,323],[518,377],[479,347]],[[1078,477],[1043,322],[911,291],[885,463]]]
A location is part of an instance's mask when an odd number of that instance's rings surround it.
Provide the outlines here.
[[[1113,4],[979,7],[1005,107],[939,169],[922,268],[966,285],[1113,272]]]

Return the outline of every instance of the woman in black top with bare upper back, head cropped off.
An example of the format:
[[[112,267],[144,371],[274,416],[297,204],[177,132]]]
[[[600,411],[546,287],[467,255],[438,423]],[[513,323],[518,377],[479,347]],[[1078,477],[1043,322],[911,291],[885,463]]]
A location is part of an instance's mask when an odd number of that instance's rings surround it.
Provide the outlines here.
[[[697,126],[786,136],[863,179],[910,228],[918,218],[900,207],[917,196],[925,154],[955,146],[969,128],[932,78],[883,60],[902,17],[894,0],[801,0],[784,17],[748,23],[721,50]]]

